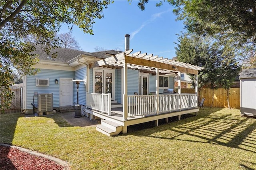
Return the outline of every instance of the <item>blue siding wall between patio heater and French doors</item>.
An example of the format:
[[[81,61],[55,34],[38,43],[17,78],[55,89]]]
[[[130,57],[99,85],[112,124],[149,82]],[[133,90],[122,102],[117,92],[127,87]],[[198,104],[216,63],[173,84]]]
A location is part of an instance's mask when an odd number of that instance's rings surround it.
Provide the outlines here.
[[[76,70],[74,73],[74,79],[80,79],[80,80],[86,80],[86,72],[87,68],[84,67],[82,69]],[[77,88],[76,83],[73,84],[74,87],[74,95],[73,95],[73,101],[74,103],[77,103]],[[84,82],[81,82],[79,85],[79,92],[78,92],[78,101],[80,105],[86,105],[86,86],[84,85]]]

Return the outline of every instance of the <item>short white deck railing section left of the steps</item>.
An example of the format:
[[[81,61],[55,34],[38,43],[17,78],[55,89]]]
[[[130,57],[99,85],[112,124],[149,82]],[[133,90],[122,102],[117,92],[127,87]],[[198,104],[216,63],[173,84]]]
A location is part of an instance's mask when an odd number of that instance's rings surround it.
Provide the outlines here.
[[[111,115],[111,93],[87,93],[86,107]]]

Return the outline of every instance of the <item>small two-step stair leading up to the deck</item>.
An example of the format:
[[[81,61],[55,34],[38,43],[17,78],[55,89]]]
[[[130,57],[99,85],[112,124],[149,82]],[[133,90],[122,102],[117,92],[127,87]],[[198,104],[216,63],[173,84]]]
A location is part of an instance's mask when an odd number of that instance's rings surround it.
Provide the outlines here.
[[[108,136],[116,136],[123,130],[123,127],[118,123],[102,119],[101,125],[97,125],[96,130]]]

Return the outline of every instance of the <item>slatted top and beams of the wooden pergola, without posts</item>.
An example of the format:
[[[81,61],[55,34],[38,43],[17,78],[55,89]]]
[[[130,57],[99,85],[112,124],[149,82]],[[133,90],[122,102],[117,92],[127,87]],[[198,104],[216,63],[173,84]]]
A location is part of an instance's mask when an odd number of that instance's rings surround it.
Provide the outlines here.
[[[133,50],[128,50],[116,55],[112,55],[106,59],[102,59],[90,64],[90,68],[94,67],[106,67],[112,69],[124,68],[124,64],[127,63],[127,69],[136,69],[143,73],[151,73],[156,75],[156,68],[158,68],[159,75],[170,73],[190,73],[198,74],[198,71],[203,67],[198,67],[189,63],[183,63],[168,58],[158,57],[158,55],[147,55],[147,53],[131,53]]]

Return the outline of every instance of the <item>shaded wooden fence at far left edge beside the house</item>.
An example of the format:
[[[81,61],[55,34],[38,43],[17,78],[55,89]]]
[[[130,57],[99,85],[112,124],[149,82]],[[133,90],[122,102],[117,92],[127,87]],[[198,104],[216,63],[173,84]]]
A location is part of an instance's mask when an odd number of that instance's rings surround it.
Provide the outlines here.
[[[12,86],[12,92],[14,92],[14,97],[11,101],[10,108],[4,108],[4,113],[21,113],[22,112],[22,87]],[[4,99],[1,99],[4,101]]]

